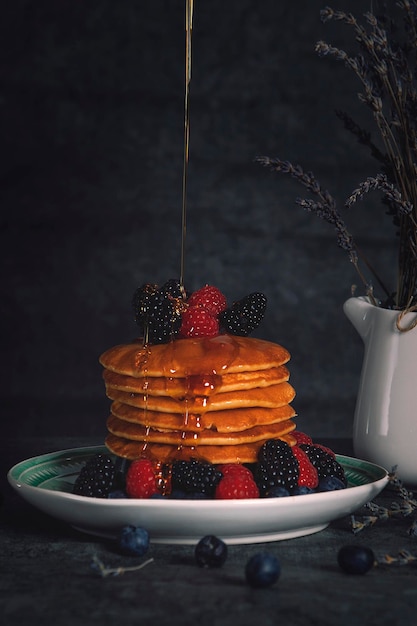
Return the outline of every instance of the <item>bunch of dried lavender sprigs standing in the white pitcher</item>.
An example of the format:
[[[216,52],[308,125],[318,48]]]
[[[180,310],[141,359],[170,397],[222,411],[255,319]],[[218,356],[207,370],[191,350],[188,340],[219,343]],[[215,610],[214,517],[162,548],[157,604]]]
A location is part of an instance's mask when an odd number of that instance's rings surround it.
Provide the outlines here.
[[[349,115],[337,113],[345,128],[371,151],[380,167],[375,176],[353,191],[345,207],[350,208],[371,191],[382,193],[382,202],[392,217],[399,242],[396,288],[389,290],[368,263],[338,212],[335,200],[312,173],[278,158],[259,157],[257,161],[273,171],[289,174],[315,196],[314,200],[297,199],[297,204],[335,227],[338,245],[348,252],[374,304],[378,302],[373,284],[365,277],[361,263],[384,293],[382,306],[404,310],[417,305],[417,1],[390,3],[389,11],[385,2],[377,4],[377,15],[364,14],[365,25],[351,13],[323,9],[320,13],[323,22],[343,22],[352,28],[358,53],[349,55],[324,41],[316,44],[316,51],[321,57],[342,61],[356,74],[362,87],[359,99],[375,121],[378,143]]]

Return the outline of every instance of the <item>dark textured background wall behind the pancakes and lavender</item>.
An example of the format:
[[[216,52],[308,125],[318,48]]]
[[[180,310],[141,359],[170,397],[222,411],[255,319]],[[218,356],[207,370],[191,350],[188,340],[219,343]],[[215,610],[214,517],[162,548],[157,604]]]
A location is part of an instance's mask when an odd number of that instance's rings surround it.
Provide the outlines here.
[[[334,115],[360,114],[359,85],[314,52],[353,45],[321,24],[324,4],[195,2],[185,272],[188,289],[268,296],[257,335],[290,350],[298,424],[317,437],[351,433],[362,345],[342,305],[357,278],[332,227],[294,204],[303,190],[254,158],[313,170],[341,211],[377,171]],[[0,31],[2,420],[100,438],[98,355],[135,335],[135,287],[180,270],[184,2],[15,0]],[[375,202],[346,219],[389,272]]]

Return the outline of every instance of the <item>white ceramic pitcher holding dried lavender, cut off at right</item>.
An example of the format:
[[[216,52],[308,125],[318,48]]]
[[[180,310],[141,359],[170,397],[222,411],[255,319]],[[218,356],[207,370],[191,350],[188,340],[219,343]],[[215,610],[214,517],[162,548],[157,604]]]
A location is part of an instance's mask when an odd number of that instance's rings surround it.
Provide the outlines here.
[[[376,307],[366,298],[350,298],[344,312],[365,344],[353,422],[358,458],[417,485],[417,327],[401,332],[398,311]],[[401,328],[415,323],[406,313]]]

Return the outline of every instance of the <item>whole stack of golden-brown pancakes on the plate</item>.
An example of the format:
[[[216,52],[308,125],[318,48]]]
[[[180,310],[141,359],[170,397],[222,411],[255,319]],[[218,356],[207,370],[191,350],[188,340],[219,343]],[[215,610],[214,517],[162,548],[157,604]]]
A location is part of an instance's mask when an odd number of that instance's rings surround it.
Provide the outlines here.
[[[267,439],[292,445],[289,359],[278,344],[230,335],[110,348],[100,357],[112,400],[106,445],[163,463],[253,463]]]

